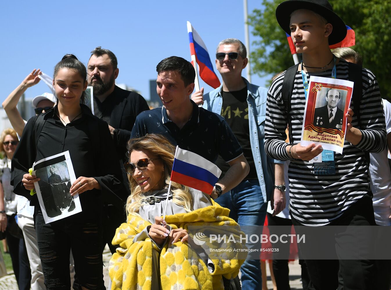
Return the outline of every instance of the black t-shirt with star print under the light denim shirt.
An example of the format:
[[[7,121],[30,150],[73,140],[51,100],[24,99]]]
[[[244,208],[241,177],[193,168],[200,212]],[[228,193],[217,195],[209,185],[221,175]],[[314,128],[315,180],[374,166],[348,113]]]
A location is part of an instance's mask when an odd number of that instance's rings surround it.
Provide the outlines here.
[[[250,166],[250,172],[244,180],[258,179],[250,143],[247,86],[240,91],[222,91],[221,116],[224,117],[231,127],[233,134],[239,141],[240,146],[242,146],[243,155]],[[230,168],[230,165],[221,156],[217,158],[216,165],[219,166],[224,174]],[[224,175],[221,174],[221,176]]]

